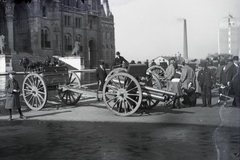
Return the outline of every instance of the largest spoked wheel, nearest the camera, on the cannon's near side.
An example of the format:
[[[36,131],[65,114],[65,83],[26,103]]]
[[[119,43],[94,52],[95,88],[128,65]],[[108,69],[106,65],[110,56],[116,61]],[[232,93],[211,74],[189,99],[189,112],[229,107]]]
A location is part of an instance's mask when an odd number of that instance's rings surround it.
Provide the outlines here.
[[[135,113],[142,102],[142,89],[128,73],[110,76],[103,86],[103,100],[109,110],[119,116]]]

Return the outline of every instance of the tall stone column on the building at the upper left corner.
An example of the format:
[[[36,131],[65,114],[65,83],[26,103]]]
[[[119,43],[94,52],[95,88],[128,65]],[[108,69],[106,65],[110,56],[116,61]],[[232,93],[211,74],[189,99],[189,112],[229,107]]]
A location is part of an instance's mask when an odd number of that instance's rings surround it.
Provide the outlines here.
[[[16,54],[14,50],[14,35],[13,35],[13,13],[14,4],[9,2],[5,6],[6,20],[7,20],[7,31],[8,31],[8,47],[11,54]]]

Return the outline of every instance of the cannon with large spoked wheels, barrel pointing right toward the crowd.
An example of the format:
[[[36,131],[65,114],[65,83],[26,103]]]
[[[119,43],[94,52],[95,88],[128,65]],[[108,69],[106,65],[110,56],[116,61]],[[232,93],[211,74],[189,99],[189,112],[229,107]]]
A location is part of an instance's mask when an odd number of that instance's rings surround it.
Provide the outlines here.
[[[154,87],[158,86],[158,87]],[[127,71],[109,76],[103,86],[103,100],[114,114],[129,116],[141,106],[152,108],[159,101],[175,101],[176,93],[161,89],[158,76],[144,64],[130,64]]]

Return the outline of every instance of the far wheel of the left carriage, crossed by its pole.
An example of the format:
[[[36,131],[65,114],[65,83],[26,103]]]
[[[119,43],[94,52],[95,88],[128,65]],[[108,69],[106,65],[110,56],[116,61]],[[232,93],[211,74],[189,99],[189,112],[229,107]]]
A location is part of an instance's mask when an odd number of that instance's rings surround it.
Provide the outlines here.
[[[69,72],[69,80],[66,84],[70,88],[80,88],[81,82],[79,77],[74,72]],[[66,105],[75,105],[79,99],[81,98],[81,93],[72,92],[70,90],[63,91],[62,89],[58,90],[59,98],[62,100],[62,102]]]

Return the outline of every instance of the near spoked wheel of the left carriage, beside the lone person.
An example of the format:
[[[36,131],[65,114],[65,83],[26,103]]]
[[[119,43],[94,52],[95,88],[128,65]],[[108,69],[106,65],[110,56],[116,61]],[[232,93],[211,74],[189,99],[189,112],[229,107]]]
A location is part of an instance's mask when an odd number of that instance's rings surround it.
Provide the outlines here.
[[[47,102],[47,86],[41,76],[36,73],[28,74],[22,85],[23,99],[32,110],[40,110]]]

